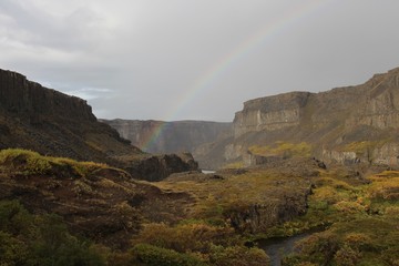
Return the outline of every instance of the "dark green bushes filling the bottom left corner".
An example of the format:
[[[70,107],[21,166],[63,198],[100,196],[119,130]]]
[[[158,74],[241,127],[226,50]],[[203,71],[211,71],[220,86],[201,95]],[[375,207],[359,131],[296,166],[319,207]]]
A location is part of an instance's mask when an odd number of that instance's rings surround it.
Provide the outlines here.
[[[17,201],[0,202],[0,265],[105,265],[61,217],[30,214]]]

